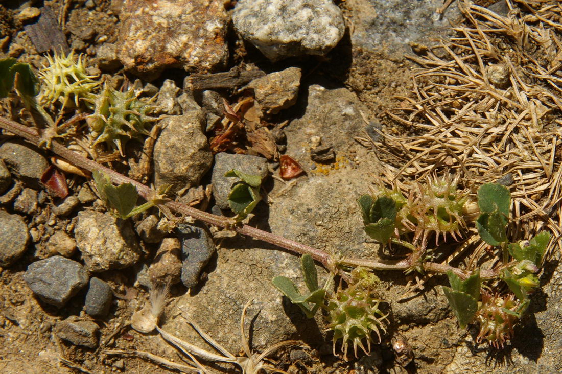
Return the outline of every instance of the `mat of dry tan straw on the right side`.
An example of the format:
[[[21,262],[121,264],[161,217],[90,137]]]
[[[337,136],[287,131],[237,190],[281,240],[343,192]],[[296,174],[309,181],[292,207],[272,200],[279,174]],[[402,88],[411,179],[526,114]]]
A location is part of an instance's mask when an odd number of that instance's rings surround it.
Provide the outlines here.
[[[465,21],[454,27],[456,37],[409,57],[420,66],[413,97],[398,97],[400,105],[385,113],[387,126],[401,125],[410,136],[380,132],[370,146],[390,166],[385,182],[406,193],[414,183],[405,179],[431,174],[460,174],[472,192],[513,175],[511,240],[547,229],[560,246],[562,3],[507,5],[501,16],[459,4]],[[478,242],[471,235],[461,250]],[[469,267],[477,266],[483,248],[473,246]]]

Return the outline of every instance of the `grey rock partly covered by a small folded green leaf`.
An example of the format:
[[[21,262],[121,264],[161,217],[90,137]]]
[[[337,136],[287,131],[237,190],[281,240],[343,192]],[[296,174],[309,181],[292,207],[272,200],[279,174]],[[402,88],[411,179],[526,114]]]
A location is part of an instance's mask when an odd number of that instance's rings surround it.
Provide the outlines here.
[[[268,175],[268,162],[263,157],[251,155],[231,155],[219,153],[215,155],[215,166],[212,169],[212,194],[220,209],[229,209],[228,195],[232,184],[238,182],[235,177],[225,177],[230,169],[242,173],[260,175],[263,180]]]

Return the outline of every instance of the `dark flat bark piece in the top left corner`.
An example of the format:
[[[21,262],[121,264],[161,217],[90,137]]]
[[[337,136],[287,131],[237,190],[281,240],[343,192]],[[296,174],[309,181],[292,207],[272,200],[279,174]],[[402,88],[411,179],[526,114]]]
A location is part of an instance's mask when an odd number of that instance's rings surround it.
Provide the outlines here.
[[[44,53],[52,49],[52,51],[67,55],[70,52],[65,34],[58,25],[57,17],[50,7],[41,8],[41,16],[33,24],[24,26],[25,33],[38,53]]]

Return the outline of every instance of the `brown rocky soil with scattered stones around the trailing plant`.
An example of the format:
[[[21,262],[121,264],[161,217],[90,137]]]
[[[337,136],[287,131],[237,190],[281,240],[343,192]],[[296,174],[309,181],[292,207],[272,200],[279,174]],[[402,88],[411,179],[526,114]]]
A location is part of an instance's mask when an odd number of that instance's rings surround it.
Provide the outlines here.
[[[497,12],[504,4],[479,3]],[[73,49],[87,57],[89,74],[117,89],[133,87],[144,101],[154,98],[153,115],[162,118],[152,140],[131,140],[124,156],[98,162],[229,216],[233,179],[225,172],[260,175],[265,197],[249,224],[334,255],[379,258],[386,254],[366,237],[356,199],[387,166],[356,138],[376,140],[375,129],[407,133],[383,112],[410,96],[416,65],[405,53],[451,35],[447,26],[460,22],[455,1],[437,13],[442,6],[439,0],[9,0],[0,5],[0,58],[38,70],[49,50]],[[229,111],[243,112],[243,134],[217,142]],[[0,115],[30,123],[13,100],[0,102]],[[304,173],[282,178],[281,155]],[[502,350],[475,343],[478,332],[459,327],[436,287],[447,284],[445,276],[398,301],[413,277],[378,272],[391,313],[387,334],[370,355],[345,361],[332,354],[320,314],[307,319],[271,284],[282,275],[303,286],[297,256],[189,219],[170,222],[156,208],[117,218],[90,178],[57,162],[48,150],[0,133],[0,372],[182,372],[142,353],[186,364],[173,345],[131,327],[156,281],[171,285],[159,326],[209,350],[182,313],[238,354],[242,308],[252,300],[244,324],[252,350],[288,339],[302,343],[268,356],[289,373],[562,370],[558,253],[545,266],[545,286],[516,328],[518,338]],[[42,183],[49,165],[65,173],[68,196]],[[327,276],[319,268],[320,283]],[[394,332],[414,352],[405,367],[392,349]],[[203,363],[210,372],[234,371]]]

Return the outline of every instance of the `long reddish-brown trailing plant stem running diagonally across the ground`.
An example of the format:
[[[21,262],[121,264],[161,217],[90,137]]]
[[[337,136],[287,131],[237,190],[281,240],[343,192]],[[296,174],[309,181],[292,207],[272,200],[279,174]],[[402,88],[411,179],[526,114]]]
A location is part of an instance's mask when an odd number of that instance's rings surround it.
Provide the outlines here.
[[[0,117],[0,128],[6,129],[9,132],[16,134],[22,138],[25,138],[29,142],[39,145],[40,136],[39,134],[20,123],[15,121],[8,120],[6,118]],[[152,190],[152,188],[145,186],[142,183],[135,181],[134,179],[130,179],[125,177],[125,175],[115,172],[115,170],[111,170],[106,166],[96,163],[96,161],[89,160],[74,151],[69,150],[65,146],[61,145],[60,143],[53,141],[51,144],[51,151],[57,154],[60,157],[70,161],[70,163],[79,166],[80,168],[89,170],[90,172],[99,171],[103,172],[111,178],[111,181],[115,184],[121,183],[131,183],[133,186],[137,188],[137,191],[140,196],[142,196],[147,201],[152,201],[156,196],[156,191]],[[330,272],[339,273],[344,278],[348,278],[346,273],[339,271],[337,269],[337,264],[343,265],[351,265],[351,266],[365,266],[371,269],[378,269],[378,270],[404,270],[410,268],[413,264],[409,261],[409,259],[400,260],[396,262],[392,261],[377,261],[377,260],[370,260],[370,259],[355,259],[355,258],[345,258],[342,260],[334,260],[332,256],[325,251],[316,249],[314,247],[310,247],[287,238],[284,238],[279,235],[275,235],[270,232],[266,232],[260,230],[258,228],[248,226],[246,224],[239,224],[235,222],[232,218],[228,217],[220,217],[218,215],[214,215],[211,213],[207,213],[202,210],[198,210],[192,208],[191,206],[187,206],[180,202],[171,201],[171,200],[162,200],[157,202],[158,206],[177,211],[178,213],[182,213],[185,215],[189,215],[198,220],[202,220],[203,222],[212,224],[214,226],[223,227],[226,229],[231,229],[235,232],[238,232],[242,235],[251,236],[255,239],[268,242],[270,244],[276,245],[281,247],[285,250],[291,251],[293,253],[297,253],[300,255],[309,254],[314,258],[316,261],[324,265]],[[437,273],[446,273],[449,270],[455,272],[459,277],[466,278],[468,277],[468,273],[457,268],[450,267],[448,265],[438,264],[438,263],[430,263],[425,262],[424,268],[430,272],[437,272]],[[497,276],[497,272],[495,271],[483,271],[481,272],[482,278],[493,278]]]

